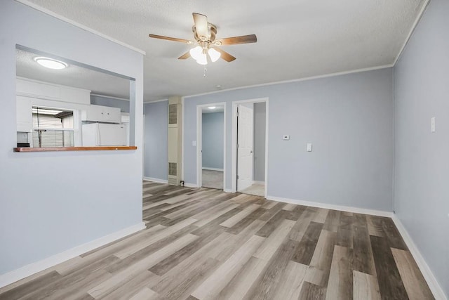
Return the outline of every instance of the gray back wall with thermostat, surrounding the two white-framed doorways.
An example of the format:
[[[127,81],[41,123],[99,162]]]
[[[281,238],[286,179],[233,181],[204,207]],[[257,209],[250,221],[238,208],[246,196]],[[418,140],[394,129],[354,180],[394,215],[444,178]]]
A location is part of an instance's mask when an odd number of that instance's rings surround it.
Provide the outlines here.
[[[196,184],[196,105],[228,103],[231,189],[232,101],[268,97],[269,196],[391,211],[392,82],[388,68],[185,98],[185,181]]]

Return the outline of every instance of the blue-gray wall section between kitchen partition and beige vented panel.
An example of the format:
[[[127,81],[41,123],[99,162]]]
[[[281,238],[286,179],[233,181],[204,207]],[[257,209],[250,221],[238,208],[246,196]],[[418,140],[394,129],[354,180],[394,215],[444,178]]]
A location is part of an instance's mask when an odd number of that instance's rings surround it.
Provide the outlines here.
[[[168,100],[145,104],[145,177],[168,180]]]

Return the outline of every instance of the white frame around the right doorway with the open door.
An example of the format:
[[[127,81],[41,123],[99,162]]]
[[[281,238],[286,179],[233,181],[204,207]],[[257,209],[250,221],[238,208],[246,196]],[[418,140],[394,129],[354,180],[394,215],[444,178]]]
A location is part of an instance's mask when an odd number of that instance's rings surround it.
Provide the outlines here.
[[[232,184],[231,184],[231,190],[232,193],[236,193],[237,191],[237,106],[244,103],[265,103],[265,190],[264,190],[264,197],[267,197],[267,190],[268,190],[268,111],[269,111],[269,98],[255,98],[255,99],[248,99],[248,100],[239,100],[239,101],[233,101],[232,102],[232,148],[231,148],[231,178],[232,178]],[[253,166],[254,170],[254,166]]]

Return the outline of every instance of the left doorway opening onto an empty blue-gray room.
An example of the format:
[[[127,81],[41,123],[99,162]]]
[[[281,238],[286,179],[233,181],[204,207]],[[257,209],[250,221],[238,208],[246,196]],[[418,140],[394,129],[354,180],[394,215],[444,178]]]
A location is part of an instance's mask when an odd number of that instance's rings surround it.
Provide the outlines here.
[[[225,103],[197,106],[197,182],[199,187],[225,187]]]

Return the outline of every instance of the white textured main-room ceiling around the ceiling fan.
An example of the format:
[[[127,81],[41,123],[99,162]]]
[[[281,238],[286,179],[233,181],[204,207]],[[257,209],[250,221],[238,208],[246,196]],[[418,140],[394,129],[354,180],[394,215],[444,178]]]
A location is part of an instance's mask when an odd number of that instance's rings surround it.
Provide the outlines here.
[[[144,100],[232,89],[392,65],[426,0],[29,0],[142,49]],[[203,66],[177,60],[192,39],[192,12],[217,25],[217,38],[256,34],[256,44],[222,46],[236,60]]]

